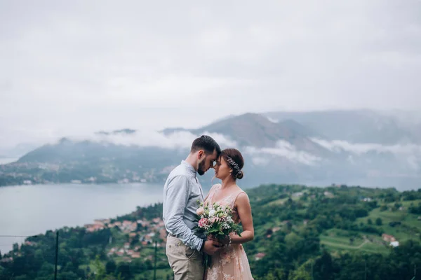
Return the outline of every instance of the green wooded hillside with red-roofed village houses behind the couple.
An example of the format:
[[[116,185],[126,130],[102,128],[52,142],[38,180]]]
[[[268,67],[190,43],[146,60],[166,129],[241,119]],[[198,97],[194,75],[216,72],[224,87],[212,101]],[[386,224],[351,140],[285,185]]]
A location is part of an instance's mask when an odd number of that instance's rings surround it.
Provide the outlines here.
[[[254,279],[416,279],[421,189],[272,184],[246,193],[254,237],[243,249]],[[22,239],[2,252],[0,279],[53,274],[56,235],[58,279],[153,279],[154,267],[157,279],[171,279],[162,210],[151,204]]]

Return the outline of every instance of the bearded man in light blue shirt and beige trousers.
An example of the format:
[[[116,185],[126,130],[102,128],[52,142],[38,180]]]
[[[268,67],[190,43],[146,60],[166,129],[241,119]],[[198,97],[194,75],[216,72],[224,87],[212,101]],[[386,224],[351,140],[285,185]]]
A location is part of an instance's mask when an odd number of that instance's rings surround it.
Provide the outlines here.
[[[189,155],[168,175],[163,187],[163,222],[169,232],[166,255],[175,280],[202,279],[202,252],[213,255],[220,250],[218,241],[196,236],[192,230],[197,225],[196,201],[203,201],[196,174],[203,175],[213,168],[220,153],[220,146],[211,137],[195,139]]]

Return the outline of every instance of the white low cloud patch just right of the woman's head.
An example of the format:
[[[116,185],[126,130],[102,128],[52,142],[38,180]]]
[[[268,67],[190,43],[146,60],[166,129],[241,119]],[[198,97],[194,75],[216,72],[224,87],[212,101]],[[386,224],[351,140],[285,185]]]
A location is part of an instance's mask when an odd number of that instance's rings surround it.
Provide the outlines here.
[[[321,161],[321,158],[304,151],[298,151],[295,146],[283,140],[278,141],[275,148],[255,148],[248,146],[244,149],[244,153],[253,156],[253,163],[255,165],[267,164],[269,162],[268,158],[274,157],[285,158],[286,160],[304,165],[316,165]]]

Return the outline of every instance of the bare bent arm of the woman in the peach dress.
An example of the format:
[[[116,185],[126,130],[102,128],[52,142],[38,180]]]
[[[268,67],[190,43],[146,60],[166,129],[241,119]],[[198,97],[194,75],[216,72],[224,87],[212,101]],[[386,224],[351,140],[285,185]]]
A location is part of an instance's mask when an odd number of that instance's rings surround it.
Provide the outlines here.
[[[250,200],[248,200],[246,193],[240,193],[236,198],[236,209],[239,213],[241,225],[243,225],[243,232],[241,232],[241,237],[232,235],[231,243],[246,243],[254,239],[253,217],[251,216]]]

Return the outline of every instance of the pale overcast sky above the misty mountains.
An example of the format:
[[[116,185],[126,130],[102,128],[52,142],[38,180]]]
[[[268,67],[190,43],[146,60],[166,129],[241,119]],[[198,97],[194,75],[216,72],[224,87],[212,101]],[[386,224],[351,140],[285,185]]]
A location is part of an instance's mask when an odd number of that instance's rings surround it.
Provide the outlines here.
[[[1,0],[0,146],[250,111],[421,109],[420,15],[420,0]]]

